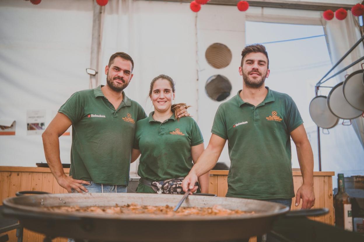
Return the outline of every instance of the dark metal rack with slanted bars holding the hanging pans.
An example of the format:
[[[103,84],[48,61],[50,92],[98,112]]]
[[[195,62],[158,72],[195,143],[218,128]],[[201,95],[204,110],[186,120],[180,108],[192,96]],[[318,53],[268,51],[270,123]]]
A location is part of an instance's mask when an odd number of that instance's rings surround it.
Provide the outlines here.
[[[326,87],[326,86],[321,86],[321,84],[327,82],[328,80],[330,80],[331,78],[339,75],[340,73],[342,73],[343,71],[346,71],[347,69],[349,69],[350,67],[354,66],[355,64],[361,62],[362,60],[364,60],[364,56],[359,58],[358,60],[356,60],[355,62],[351,63],[350,65],[348,65],[347,67],[341,69],[340,71],[338,71],[336,74],[330,76],[329,78],[325,79],[326,76],[329,75],[329,73],[335,69],[335,67],[337,67],[344,59],[345,57],[347,57],[352,51],[353,49],[355,49],[362,41],[364,40],[364,35],[353,45],[353,47],[351,47],[343,57],[341,57],[341,59],[323,76],[323,78],[321,78],[321,80],[319,80],[316,83],[315,86],[315,96],[318,96],[318,89],[320,87],[325,87],[325,88],[332,88],[332,87]],[[324,80],[325,79],[325,80]],[[324,81],[323,81],[324,80]],[[317,147],[318,147],[318,170],[321,171],[321,143],[320,143],[320,127],[317,126]]]

